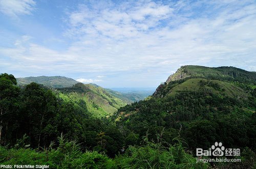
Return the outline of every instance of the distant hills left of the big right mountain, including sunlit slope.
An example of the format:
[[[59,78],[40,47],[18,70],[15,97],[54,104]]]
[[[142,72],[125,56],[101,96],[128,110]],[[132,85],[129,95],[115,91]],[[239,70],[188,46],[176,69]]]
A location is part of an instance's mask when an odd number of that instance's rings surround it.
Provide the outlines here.
[[[89,83],[83,84],[72,78],[64,76],[38,76],[16,78],[18,86],[36,82],[45,87],[52,88],[58,98],[72,102],[83,111],[88,111],[94,117],[112,115],[118,108],[134,101],[143,100],[154,91],[117,92],[104,89]],[[83,104],[82,104],[83,103]]]

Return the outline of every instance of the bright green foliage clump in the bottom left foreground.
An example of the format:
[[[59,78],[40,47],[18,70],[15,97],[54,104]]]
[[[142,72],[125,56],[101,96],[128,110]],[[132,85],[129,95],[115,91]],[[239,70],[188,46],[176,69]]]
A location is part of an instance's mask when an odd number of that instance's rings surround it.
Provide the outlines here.
[[[113,168],[112,160],[95,151],[81,152],[80,145],[59,137],[59,146],[44,151],[0,147],[0,163],[4,165],[50,165],[50,168]]]

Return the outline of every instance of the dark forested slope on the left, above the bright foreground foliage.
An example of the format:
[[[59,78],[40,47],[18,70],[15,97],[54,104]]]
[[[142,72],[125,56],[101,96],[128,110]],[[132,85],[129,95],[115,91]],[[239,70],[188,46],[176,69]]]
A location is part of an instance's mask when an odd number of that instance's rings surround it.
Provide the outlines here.
[[[35,82],[23,88],[16,85],[13,75],[0,75],[2,146],[42,150],[63,135],[69,140],[76,140],[83,150],[105,151],[114,156],[121,148],[122,137],[118,135],[117,128],[107,121],[94,118],[83,100],[78,103],[67,101],[59,97],[56,91]],[[72,89],[82,92],[89,90],[78,83],[73,88],[63,88],[63,93],[69,93]],[[104,146],[99,142],[103,137],[104,142],[108,141]],[[5,159],[1,155],[0,163],[3,163]]]

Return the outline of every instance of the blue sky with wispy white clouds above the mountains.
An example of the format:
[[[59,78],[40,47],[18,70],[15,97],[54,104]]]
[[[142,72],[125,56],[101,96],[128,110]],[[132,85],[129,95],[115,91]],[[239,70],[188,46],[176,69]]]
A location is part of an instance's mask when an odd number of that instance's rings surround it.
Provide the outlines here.
[[[0,0],[0,73],[157,87],[183,65],[256,71],[256,1]]]

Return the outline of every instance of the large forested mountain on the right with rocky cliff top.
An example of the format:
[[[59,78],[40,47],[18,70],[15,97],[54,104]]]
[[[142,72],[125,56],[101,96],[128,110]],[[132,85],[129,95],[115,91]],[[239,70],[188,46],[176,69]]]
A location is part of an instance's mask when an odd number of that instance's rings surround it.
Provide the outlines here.
[[[182,66],[148,99],[121,107],[113,116],[125,143],[145,132],[170,144],[178,135],[195,154],[215,142],[256,150],[256,73],[234,67]],[[227,166],[226,166],[227,167]]]

